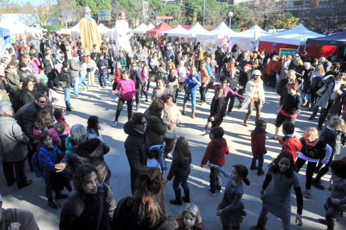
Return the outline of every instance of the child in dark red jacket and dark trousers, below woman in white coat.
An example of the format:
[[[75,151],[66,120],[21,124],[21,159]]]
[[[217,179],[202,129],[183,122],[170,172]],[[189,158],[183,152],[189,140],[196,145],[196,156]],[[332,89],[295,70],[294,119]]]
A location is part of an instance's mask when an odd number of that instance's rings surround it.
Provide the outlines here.
[[[267,153],[266,149],[266,128],[267,122],[263,119],[256,121],[255,130],[251,132],[251,150],[252,150],[252,162],[251,170],[257,169],[257,175],[261,176],[264,174],[262,170],[264,162],[264,154]],[[256,166],[256,160],[258,160],[258,166]]]

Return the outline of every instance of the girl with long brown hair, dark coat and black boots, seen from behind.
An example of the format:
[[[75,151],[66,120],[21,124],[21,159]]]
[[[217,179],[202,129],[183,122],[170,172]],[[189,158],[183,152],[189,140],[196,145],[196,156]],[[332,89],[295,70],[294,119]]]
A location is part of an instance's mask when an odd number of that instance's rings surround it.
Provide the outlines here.
[[[176,147],[173,151],[172,164],[167,175],[167,180],[173,180],[173,190],[176,195],[176,199],[170,200],[171,204],[181,205],[183,200],[185,203],[190,202],[190,190],[187,185],[187,178],[190,174],[191,165],[191,151],[190,146],[184,136],[179,136],[177,140]],[[179,185],[184,189],[185,196],[181,197],[181,190]]]

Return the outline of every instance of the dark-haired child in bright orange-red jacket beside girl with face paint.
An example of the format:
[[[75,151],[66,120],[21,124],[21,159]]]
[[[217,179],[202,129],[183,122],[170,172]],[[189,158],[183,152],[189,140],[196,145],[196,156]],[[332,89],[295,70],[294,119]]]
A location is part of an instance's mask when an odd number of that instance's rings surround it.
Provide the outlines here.
[[[297,158],[297,151],[300,151],[302,145],[297,139],[294,133],[294,124],[292,122],[285,122],[283,124],[283,139],[279,139],[278,142],[283,145],[282,151],[289,151],[293,155],[293,160]]]

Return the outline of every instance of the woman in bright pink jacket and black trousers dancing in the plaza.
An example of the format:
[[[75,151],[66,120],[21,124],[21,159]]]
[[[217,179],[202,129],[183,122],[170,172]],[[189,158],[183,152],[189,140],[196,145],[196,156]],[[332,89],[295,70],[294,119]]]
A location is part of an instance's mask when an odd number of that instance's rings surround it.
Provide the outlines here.
[[[135,82],[131,79],[129,79],[129,72],[124,71],[122,73],[123,78],[120,79],[116,90],[112,90],[112,94],[117,94],[120,89],[120,96],[118,101],[118,107],[117,112],[115,113],[115,121],[113,123],[113,127],[117,126],[118,124],[118,118],[120,116],[120,112],[122,109],[122,106],[125,104],[125,101],[127,103],[127,118],[128,121],[132,117],[132,105],[134,102],[134,95],[135,93],[139,93],[139,89],[136,89]]]

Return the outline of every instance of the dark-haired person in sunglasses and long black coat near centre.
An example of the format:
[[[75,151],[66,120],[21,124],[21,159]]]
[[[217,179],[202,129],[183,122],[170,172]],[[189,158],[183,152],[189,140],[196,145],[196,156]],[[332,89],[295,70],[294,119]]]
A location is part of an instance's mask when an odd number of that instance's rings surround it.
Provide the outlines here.
[[[131,192],[135,192],[135,182],[142,167],[147,163],[147,151],[150,148],[149,135],[146,130],[147,117],[141,113],[133,114],[131,121],[124,125],[128,135],[124,146],[128,164],[131,169]]]

